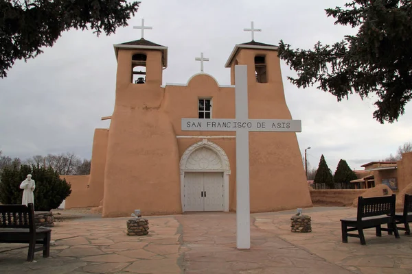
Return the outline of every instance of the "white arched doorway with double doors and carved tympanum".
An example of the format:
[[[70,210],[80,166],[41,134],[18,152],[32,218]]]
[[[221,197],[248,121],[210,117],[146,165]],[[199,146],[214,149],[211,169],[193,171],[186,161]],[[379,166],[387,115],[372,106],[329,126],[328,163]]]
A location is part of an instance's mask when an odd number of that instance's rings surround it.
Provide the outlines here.
[[[203,139],[186,149],[181,162],[181,203],[187,211],[229,211],[229,159]]]

